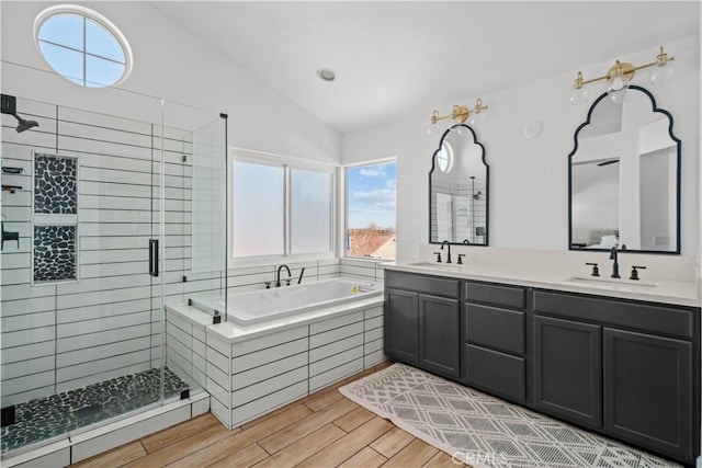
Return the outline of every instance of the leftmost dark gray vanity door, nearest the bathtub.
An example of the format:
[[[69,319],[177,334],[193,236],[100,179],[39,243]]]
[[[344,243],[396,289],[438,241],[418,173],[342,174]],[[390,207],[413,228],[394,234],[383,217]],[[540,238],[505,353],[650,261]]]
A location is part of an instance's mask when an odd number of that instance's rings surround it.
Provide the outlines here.
[[[385,354],[408,364],[419,363],[417,293],[385,289]]]

